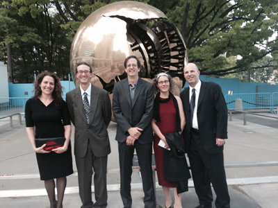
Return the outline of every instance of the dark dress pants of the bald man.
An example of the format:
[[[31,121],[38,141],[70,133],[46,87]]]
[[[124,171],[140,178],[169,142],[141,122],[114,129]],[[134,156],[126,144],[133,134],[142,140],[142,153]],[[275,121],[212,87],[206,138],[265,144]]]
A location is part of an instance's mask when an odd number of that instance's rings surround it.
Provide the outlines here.
[[[223,152],[206,153],[199,133],[191,131],[188,157],[199,203],[205,207],[211,207],[213,201],[212,183],[216,193],[215,207],[229,208],[230,198],[224,170]]]

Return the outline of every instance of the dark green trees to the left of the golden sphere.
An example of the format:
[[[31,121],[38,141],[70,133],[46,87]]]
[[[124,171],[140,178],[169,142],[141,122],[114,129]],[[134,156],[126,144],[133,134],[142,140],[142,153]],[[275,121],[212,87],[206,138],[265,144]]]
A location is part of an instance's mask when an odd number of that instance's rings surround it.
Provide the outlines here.
[[[70,39],[88,15],[113,1],[0,2],[0,60],[13,66],[16,82],[30,83],[44,70],[63,80],[70,73]]]

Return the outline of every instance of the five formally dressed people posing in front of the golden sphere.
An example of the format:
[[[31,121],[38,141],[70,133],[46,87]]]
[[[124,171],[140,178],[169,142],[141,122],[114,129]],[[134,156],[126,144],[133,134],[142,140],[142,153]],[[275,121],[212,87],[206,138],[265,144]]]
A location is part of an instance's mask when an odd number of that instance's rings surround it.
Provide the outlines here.
[[[120,195],[125,208],[132,205],[131,174],[136,150],[145,193],[145,208],[155,208],[152,178],[152,150],[156,161],[158,184],[165,193],[165,208],[172,207],[170,188],[174,190],[174,208],[182,207],[181,193],[188,191],[190,172],[199,198],[196,208],[211,207],[211,184],[217,195],[215,206],[230,207],[224,171],[223,145],[227,139],[227,106],[220,86],[199,80],[196,64],[184,67],[189,87],[180,96],[172,94],[173,80],[168,73],[158,73],[153,85],[142,80],[140,60],[126,58],[127,78],[114,85],[113,115],[117,122],[120,162]],[[35,96],[26,103],[26,131],[36,153],[40,179],[44,180],[50,207],[63,207],[66,177],[73,173],[70,132],[74,132],[74,155],[79,180],[81,208],[107,207],[106,173],[111,146],[108,124],[111,101],[106,90],[90,83],[92,69],[81,62],[76,67],[80,87],[61,96],[62,87],[54,73],[41,73],[35,82]],[[156,96],[154,96],[156,94]],[[46,144],[35,146],[36,139],[65,137],[63,146],[51,151]],[[92,202],[92,175],[95,203]],[[56,184],[54,179],[56,179]],[[55,195],[57,187],[57,200]]]

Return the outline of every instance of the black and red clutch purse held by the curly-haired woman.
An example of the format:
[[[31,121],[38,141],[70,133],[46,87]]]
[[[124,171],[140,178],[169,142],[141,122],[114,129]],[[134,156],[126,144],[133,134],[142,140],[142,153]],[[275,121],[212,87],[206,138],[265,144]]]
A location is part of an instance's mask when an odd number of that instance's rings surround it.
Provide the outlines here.
[[[62,147],[64,146],[64,143],[65,143],[65,137],[35,139],[36,148],[39,148],[40,146],[47,144],[46,146],[44,146],[44,150],[46,151],[51,151],[53,149]]]

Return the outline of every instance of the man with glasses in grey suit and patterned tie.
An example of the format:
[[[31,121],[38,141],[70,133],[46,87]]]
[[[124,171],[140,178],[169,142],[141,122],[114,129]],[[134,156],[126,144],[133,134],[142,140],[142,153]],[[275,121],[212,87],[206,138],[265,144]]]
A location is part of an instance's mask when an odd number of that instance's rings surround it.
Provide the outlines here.
[[[74,155],[79,178],[81,208],[107,207],[107,159],[111,153],[107,127],[111,101],[106,90],[90,83],[92,69],[82,62],[76,67],[80,87],[67,93],[74,132]],[[92,202],[92,168],[95,172],[95,204]]]

